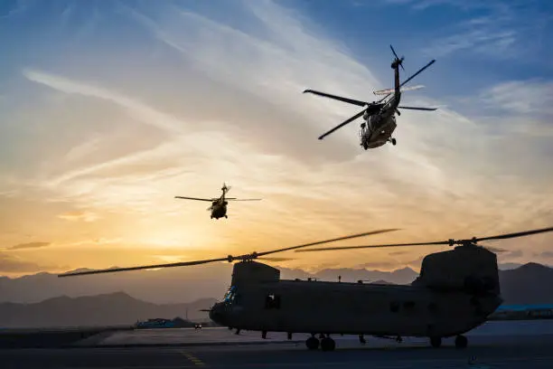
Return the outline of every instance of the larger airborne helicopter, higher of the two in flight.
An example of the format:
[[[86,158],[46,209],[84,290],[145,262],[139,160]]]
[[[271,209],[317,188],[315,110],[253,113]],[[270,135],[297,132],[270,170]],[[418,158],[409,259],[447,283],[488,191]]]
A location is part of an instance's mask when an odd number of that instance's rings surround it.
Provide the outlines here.
[[[417,88],[411,88],[411,89],[409,88],[403,89],[402,87],[406,83],[408,83],[409,80],[414,79],[420,72],[426,70],[426,68],[432,65],[436,60],[432,60],[428,62],[423,68],[418,70],[417,73],[413,74],[411,77],[409,77],[407,80],[405,80],[403,83],[400,84],[399,67],[403,69],[403,60],[405,58],[403,56],[401,58],[398,58],[398,54],[394,51],[394,48],[391,45],[389,45],[389,47],[395,56],[394,61],[392,61],[391,63],[391,68],[394,70],[395,88],[393,90],[389,89],[389,90],[374,91],[375,95],[385,95],[382,99],[378,101],[373,101],[373,102],[365,102],[357,99],[342,98],[341,96],[331,95],[329,93],[316,91],[316,90],[304,91],[304,93],[306,92],[313,93],[315,95],[323,96],[325,98],[337,99],[343,102],[347,102],[349,104],[363,107],[363,109],[359,113],[355,114],[351,118],[346,119],[338,126],[329,130],[321,137],[319,137],[319,139],[323,139],[324,137],[333,133],[335,130],[344,127],[345,125],[351,123],[353,120],[360,118],[362,116],[364,122],[361,123],[361,131],[359,133],[359,136],[361,138],[361,147],[367,150],[369,148],[381,147],[388,142],[391,142],[392,145],[396,145],[396,138],[392,137],[392,134],[394,133],[394,130],[397,127],[395,114],[397,113],[398,116],[401,115],[398,109],[428,110],[428,111],[436,110],[436,108],[418,108],[418,107],[399,106],[399,100],[401,99],[402,91],[418,90],[418,88],[421,88],[422,86],[417,86]],[[384,101],[388,99],[389,96],[392,95],[392,93],[393,93],[393,96],[389,100]]]

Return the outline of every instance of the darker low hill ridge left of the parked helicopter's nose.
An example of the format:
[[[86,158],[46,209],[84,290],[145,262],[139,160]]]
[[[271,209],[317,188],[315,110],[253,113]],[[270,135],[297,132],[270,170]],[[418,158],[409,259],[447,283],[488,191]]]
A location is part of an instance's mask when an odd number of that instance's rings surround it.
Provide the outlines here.
[[[189,320],[206,319],[215,299],[206,298],[189,304],[156,305],[117,292],[81,298],[62,296],[34,304],[0,304],[2,327],[48,326],[119,326],[133,325],[138,320],[162,317],[186,317]]]

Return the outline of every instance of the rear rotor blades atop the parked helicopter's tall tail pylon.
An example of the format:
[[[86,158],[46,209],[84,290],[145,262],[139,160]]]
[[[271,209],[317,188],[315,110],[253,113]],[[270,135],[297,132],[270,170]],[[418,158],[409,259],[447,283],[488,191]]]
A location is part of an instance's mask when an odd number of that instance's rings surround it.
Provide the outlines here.
[[[336,250],[353,250],[353,249],[377,249],[384,247],[410,247],[410,246],[432,246],[432,245],[464,245],[466,243],[476,243],[479,241],[489,241],[489,240],[504,240],[515,237],[525,237],[537,233],[553,232],[553,227],[549,228],[540,228],[538,230],[524,231],[524,232],[515,232],[515,233],[505,233],[496,236],[482,237],[482,238],[473,238],[470,240],[447,240],[447,241],[435,241],[435,242],[417,242],[417,243],[389,243],[381,245],[367,245],[367,246],[342,246],[342,247],[325,247],[325,248],[316,248],[316,249],[307,249],[307,250],[297,250],[295,252],[313,252],[313,251],[336,251]],[[488,248],[494,249],[494,248]],[[502,250],[502,249],[498,249]],[[500,251],[501,252],[501,251]]]

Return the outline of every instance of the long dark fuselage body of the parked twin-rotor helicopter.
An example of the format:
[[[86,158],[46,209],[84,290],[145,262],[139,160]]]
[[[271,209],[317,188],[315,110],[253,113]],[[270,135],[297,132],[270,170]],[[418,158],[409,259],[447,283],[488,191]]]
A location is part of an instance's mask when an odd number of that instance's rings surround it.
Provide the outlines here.
[[[370,336],[449,337],[482,325],[501,305],[490,295],[424,287],[280,280],[237,286],[210,317],[237,329]]]

